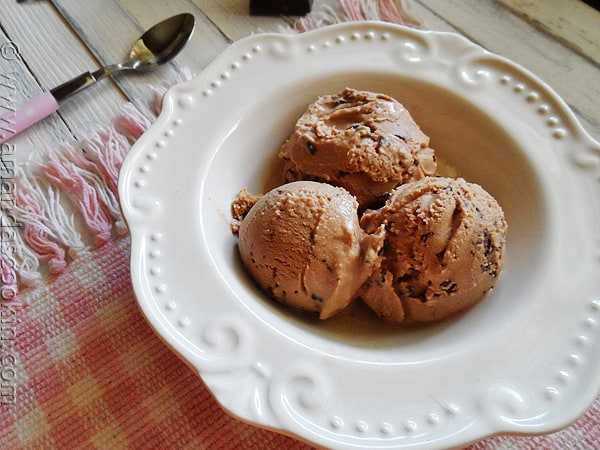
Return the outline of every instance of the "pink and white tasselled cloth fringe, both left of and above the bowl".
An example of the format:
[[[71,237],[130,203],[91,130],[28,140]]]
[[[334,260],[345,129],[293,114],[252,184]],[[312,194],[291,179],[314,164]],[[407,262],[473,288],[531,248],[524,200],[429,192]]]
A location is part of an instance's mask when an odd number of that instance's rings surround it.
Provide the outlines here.
[[[315,3],[310,14],[282,31],[303,32],[353,20],[419,24],[410,0],[338,0],[335,6]],[[127,234],[118,199],[123,159],[160,113],[170,85],[193,76],[189,69],[182,69],[173,82],[149,86],[148,106],[154,117],[146,117],[126,103],[109,126],[44,151],[17,168],[14,186],[6,192],[12,203],[5,208],[3,198],[0,216],[3,296],[34,287],[45,275],[56,276],[70,261]],[[3,186],[3,194],[5,191]]]

